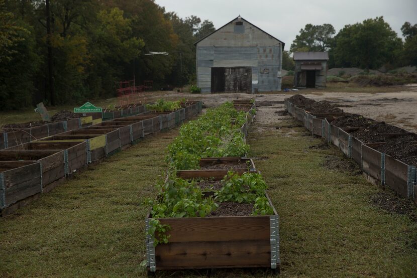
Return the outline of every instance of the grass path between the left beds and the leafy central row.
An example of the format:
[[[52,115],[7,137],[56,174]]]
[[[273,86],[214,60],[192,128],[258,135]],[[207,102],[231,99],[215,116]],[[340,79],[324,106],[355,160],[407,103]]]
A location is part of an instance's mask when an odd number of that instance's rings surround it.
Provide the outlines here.
[[[0,276],[143,275],[144,201],[177,132],[145,138],[0,219]]]

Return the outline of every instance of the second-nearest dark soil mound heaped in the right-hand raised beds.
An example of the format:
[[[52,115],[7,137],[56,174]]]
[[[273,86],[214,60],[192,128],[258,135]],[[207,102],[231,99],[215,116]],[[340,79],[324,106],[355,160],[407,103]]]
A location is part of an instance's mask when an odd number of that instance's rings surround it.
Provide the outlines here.
[[[351,135],[358,138],[364,143],[376,143],[384,142],[386,136],[381,135],[384,133],[402,133],[403,129],[394,125],[387,124],[385,122],[376,122],[365,128],[360,128],[356,131],[351,132]]]

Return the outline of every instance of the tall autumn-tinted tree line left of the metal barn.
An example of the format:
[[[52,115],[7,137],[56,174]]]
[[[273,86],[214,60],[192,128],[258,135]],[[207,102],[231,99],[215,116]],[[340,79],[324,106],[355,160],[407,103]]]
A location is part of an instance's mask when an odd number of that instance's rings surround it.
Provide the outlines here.
[[[193,44],[213,31],[153,0],[0,0],[0,109],[114,96],[133,76],[193,82]]]

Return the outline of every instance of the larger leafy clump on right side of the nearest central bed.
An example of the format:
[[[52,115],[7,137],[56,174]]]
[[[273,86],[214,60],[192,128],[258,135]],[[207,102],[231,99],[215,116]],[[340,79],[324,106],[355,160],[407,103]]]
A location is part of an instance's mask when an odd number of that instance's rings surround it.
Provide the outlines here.
[[[252,203],[265,195],[267,188],[262,176],[257,173],[243,173],[242,176],[229,171],[222,181],[223,187],[215,193],[216,201]]]

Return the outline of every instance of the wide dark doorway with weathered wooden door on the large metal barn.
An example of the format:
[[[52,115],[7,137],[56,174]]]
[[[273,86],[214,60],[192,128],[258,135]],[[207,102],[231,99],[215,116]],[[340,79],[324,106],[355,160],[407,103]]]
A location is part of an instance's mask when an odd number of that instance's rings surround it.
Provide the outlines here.
[[[212,92],[252,92],[252,68],[212,68]]]

